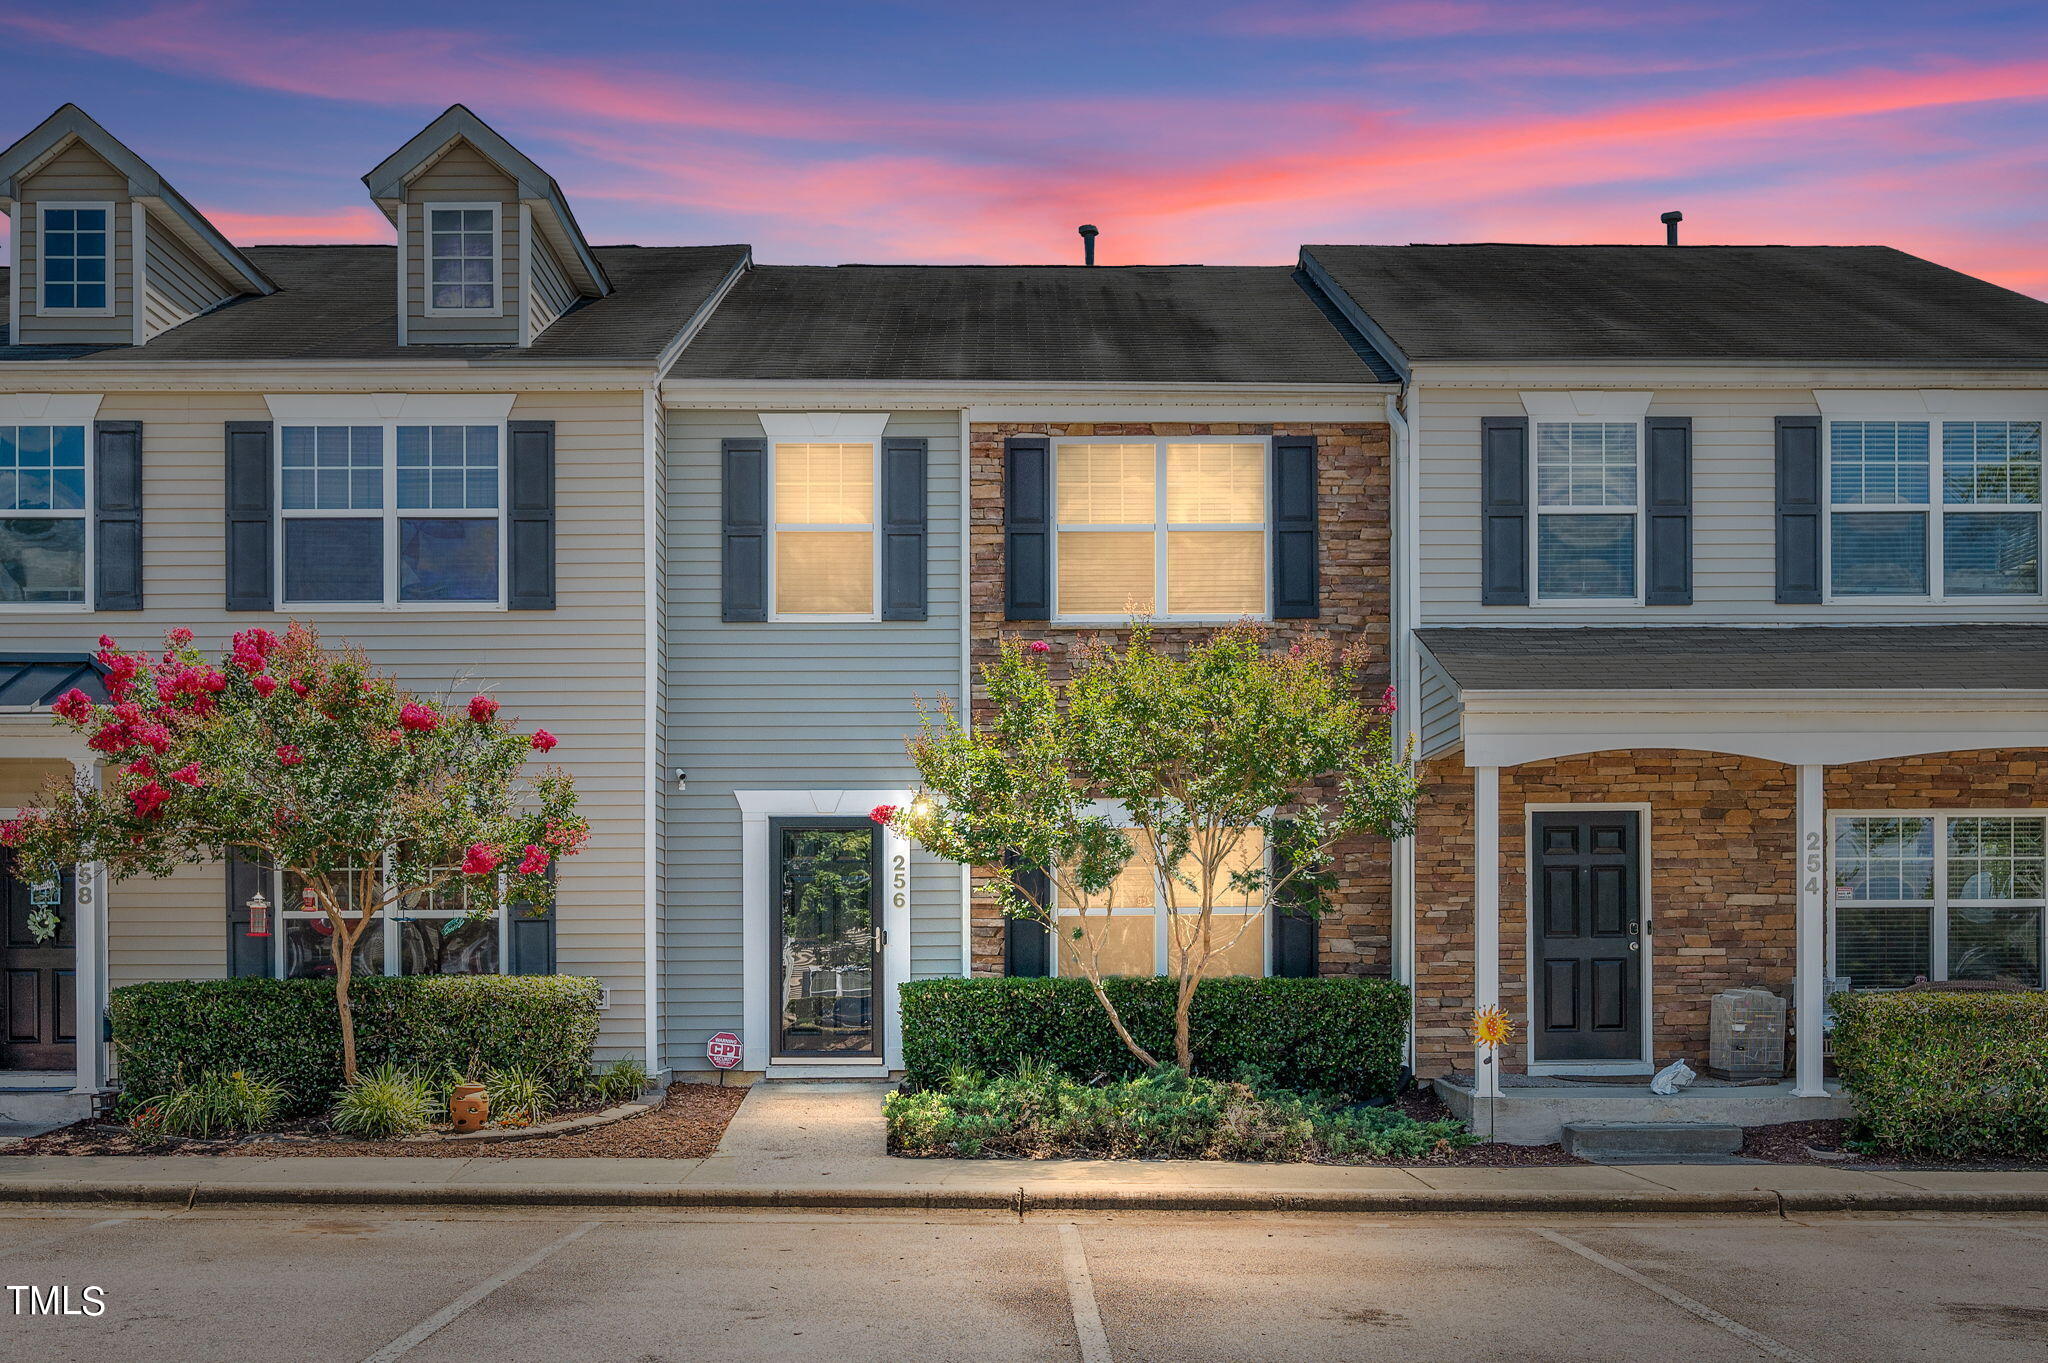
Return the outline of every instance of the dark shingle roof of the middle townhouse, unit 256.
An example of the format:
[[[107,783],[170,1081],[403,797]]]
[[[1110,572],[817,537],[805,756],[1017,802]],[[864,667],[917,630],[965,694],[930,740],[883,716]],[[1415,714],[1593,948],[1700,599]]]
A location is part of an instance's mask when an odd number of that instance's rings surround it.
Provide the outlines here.
[[[756,266],[670,379],[1386,383],[1286,266]]]

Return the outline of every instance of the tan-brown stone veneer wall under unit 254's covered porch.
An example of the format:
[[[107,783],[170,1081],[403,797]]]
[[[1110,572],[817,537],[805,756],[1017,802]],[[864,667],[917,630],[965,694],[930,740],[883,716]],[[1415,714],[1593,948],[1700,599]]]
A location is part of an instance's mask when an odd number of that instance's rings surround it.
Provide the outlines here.
[[[1827,808],[2042,808],[2048,753],[1935,753],[1829,767]],[[1528,1060],[1528,804],[1649,804],[1651,1015],[1657,1062],[1698,1064],[1722,988],[1792,997],[1796,960],[1794,767],[1692,751],[1608,751],[1501,772],[1501,1005],[1518,1025],[1503,1066]],[[1415,851],[1417,1070],[1470,1066],[1473,772],[1423,763]],[[1794,1019],[1796,1025],[1796,1019]],[[1788,1048],[1790,1062],[1790,1048]]]

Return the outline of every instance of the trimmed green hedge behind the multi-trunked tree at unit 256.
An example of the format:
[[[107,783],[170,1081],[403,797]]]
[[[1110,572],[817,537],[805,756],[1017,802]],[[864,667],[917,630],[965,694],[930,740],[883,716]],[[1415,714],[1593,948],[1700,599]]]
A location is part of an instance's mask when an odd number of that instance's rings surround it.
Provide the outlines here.
[[[1104,988],[1130,1036],[1174,1060],[1169,978],[1114,978]],[[1122,1079],[1143,1066],[1110,1029],[1087,980],[918,980],[903,984],[903,1068],[934,1087],[954,1068],[1051,1064],[1077,1079]],[[1399,1083],[1409,993],[1391,980],[1202,980],[1194,991],[1194,1068],[1229,1079],[1253,1066],[1274,1085],[1374,1097]]]

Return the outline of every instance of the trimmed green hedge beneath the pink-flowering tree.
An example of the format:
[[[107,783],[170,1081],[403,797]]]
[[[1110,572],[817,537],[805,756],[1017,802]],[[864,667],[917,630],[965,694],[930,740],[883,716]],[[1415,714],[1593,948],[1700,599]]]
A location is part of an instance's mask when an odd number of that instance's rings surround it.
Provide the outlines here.
[[[354,980],[356,1064],[520,1066],[559,1093],[590,1083],[598,982],[569,974],[422,974]],[[164,980],[109,999],[125,1099],[166,1093],[207,1070],[248,1070],[285,1087],[283,1117],[326,1111],[342,1087],[332,980]]]

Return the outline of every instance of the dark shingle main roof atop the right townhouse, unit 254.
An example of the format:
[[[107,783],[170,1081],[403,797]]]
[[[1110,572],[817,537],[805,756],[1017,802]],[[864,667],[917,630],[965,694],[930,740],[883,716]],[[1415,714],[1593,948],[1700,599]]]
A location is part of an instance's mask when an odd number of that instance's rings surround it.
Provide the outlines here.
[[[2048,362],[2048,303],[1888,246],[1305,246],[1411,360]]]

